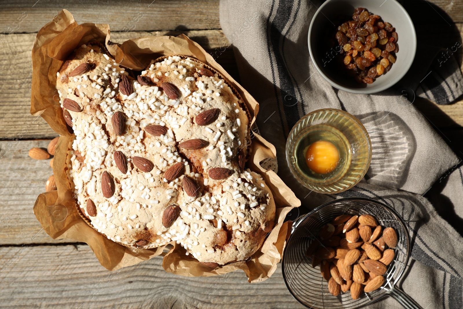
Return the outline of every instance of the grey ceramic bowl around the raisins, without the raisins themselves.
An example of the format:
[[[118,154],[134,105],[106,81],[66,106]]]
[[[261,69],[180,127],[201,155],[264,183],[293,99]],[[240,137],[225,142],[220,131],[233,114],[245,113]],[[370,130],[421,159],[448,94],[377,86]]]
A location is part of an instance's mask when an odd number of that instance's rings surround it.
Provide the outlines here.
[[[321,36],[325,35],[323,30],[326,27],[331,27],[331,29],[337,27],[335,20],[339,15],[348,15],[351,19],[356,7],[364,7],[369,12],[381,16],[383,21],[395,27],[399,37],[396,62],[388,73],[378,76],[371,84],[357,83],[353,77],[336,74],[336,71],[327,69],[326,61],[329,58],[326,52],[332,53],[334,49],[329,50],[328,47],[321,46],[324,39]],[[326,0],[315,12],[310,23],[308,44],[310,57],[315,67],[333,87],[351,93],[371,94],[393,86],[410,69],[416,52],[416,33],[412,19],[396,0]],[[338,42],[335,46],[338,46]],[[342,64],[339,64],[339,72],[343,69]]]

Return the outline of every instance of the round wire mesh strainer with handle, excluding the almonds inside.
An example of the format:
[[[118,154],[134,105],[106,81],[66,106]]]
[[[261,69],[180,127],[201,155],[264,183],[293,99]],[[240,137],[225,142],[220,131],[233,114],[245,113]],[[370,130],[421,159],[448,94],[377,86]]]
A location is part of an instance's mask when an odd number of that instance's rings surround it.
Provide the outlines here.
[[[393,227],[397,232],[398,244],[395,257],[388,265],[382,287],[370,293],[362,293],[357,300],[350,293],[332,296],[328,284],[320,273],[320,267],[312,267],[312,258],[305,252],[313,241],[319,241],[319,230],[340,214],[371,214],[383,227]],[[293,223],[291,236],[282,259],[282,272],[289,292],[301,304],[313,309],[362,308],[390,295],[405,308],[422,309],[410,296],[395,287],[405,271],[410,256],[410,237],[403,221],[394,210],[372,199],[350,197],[338,199],[315,208],[309,214],[299,217]]]

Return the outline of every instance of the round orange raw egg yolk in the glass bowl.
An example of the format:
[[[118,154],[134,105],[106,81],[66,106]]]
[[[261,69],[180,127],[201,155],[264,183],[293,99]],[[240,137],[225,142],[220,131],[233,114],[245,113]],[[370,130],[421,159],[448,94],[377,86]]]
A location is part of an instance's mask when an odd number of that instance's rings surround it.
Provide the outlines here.
[[[307,149],[306,163],[316,173],[329,173],[336,168],[338,162],[338,148],[327,140],[316,141]]]

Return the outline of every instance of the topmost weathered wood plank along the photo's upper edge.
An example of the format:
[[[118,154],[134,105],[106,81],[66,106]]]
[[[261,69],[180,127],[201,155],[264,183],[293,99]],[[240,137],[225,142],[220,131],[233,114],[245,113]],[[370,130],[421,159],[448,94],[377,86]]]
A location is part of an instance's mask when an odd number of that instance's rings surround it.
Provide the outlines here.
[[[109,24],[111,31],[219,29],[218,0],[27,0],[2,3],[2,33],[38,32],[62,9],[79,23]]]

